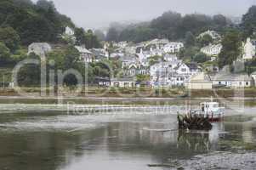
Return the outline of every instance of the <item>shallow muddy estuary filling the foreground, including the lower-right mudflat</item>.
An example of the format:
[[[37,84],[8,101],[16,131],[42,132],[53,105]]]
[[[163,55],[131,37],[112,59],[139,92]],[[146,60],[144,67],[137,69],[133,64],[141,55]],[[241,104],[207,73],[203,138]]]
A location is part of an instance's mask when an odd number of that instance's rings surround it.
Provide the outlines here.
[[[176,116],[138,111],[66,115],[61,111],[3,111],[0,169],[147,170],[253,169],[255,108],[228,116],[210,132],[177,130]],[[154,112],[154,111],[151,111]],[[231,112],[231,111],[230,111]],[[256,113],[256,112],[255,112]]]

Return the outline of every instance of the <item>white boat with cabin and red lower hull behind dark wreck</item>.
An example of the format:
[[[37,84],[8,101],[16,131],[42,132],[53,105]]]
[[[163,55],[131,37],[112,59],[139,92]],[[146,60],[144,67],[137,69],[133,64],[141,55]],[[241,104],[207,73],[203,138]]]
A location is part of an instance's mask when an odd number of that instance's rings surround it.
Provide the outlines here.
[[[219,102],[202,102],[200,111],[191,111],[191,115],[208,117],[210,122],[219,122],[225,116],[225,107],[221,107]]]

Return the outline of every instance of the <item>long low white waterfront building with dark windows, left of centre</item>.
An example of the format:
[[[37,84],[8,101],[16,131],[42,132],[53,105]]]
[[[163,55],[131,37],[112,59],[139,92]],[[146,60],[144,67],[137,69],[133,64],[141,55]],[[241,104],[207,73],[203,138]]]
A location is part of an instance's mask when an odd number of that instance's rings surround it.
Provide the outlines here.
[[[135,88],[134,78],[111,78],[111,87],[117,88]]]

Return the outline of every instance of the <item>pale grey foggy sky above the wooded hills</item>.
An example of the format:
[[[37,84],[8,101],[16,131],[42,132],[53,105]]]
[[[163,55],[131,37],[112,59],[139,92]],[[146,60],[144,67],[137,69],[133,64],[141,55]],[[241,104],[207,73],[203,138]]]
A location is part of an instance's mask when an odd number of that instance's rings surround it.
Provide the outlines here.
[[[37,0],[33,0],[36,2]],[[53,0],[77,26],[100,28],[113,21],[151,20],[172,10],[181,14],[241,16],[256,0]]]

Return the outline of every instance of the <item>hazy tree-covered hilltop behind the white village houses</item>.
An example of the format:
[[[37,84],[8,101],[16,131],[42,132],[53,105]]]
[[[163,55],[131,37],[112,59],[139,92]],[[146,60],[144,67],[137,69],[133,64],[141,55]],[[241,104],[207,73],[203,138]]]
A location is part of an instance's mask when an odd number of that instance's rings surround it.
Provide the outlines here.
[[[208,16],[206,14],[182,14],[168,11],[149,22],[122,26],[115,23],[109,28],[105,37],[106,41],[131,41],[143,42],[152,38],[168,38],[169,40],[185,39],[185,35],[191,32],[197,36],[202,31],[214,30],[224,33],[229,28],[241,30],[244,36],[253,33],[256,26],[255,9],[249,8],[247,14],[242,17],[242,24],[236,26],[222,14]]]

